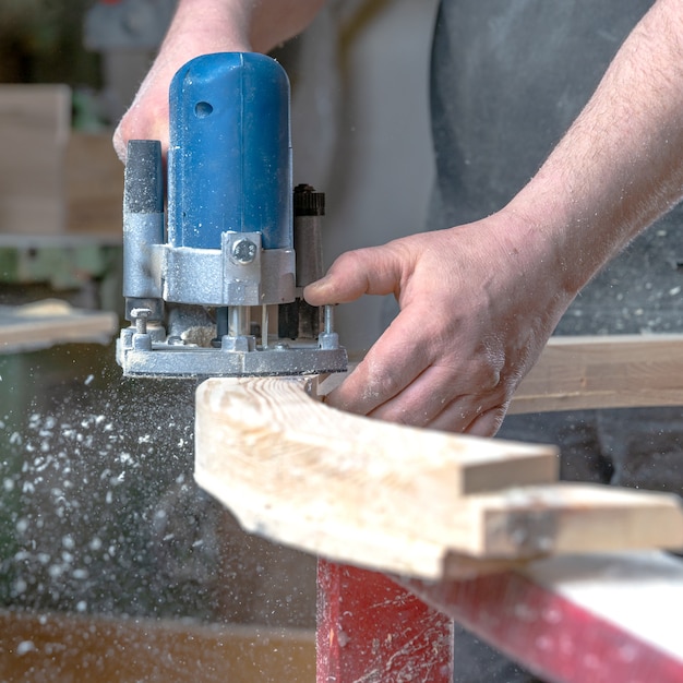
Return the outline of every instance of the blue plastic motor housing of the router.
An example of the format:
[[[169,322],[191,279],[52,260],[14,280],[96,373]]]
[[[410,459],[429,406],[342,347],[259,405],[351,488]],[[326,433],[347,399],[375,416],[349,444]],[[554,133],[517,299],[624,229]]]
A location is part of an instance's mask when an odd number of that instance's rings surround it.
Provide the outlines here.
[[[218,52],[170,86],[168,241],[220,249],[226,231],[292,247],[289,80],[269,57]]]

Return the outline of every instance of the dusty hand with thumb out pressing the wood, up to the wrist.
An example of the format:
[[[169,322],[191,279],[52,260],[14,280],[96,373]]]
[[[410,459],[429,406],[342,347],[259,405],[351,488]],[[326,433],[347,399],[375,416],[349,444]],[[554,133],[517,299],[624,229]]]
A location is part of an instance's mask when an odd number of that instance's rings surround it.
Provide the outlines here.
[[[501,212],[348,252],[307,287],[316,305],[364,293],[394,293],[400,305],[327,403],[394,422],[494,434],[573,298],[560,260],[539,253],[549,244],[515,224]]]

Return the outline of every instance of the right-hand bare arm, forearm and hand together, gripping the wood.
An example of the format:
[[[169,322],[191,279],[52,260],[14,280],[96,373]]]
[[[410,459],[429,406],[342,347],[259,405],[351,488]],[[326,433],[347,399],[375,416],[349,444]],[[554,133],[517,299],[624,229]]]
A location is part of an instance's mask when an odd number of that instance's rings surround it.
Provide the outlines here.
[[[683,195],[683,17],[657,0],[531,181],[498,214],[344,254],[310,303],[400,313],[329,404],[493,434],[580,288]]]

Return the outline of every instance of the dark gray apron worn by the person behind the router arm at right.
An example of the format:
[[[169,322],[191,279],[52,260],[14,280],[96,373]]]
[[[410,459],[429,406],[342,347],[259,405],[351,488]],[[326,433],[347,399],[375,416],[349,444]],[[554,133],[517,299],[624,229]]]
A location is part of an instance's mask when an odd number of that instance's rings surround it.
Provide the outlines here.
[[[442,0],[431,107],[429,229],[503,207],[584,107],[650,0]],[[683,208],[650,227],[580,293],[556,334],[683,331]],[[683,493],[683,409],[511,416],[501,436],[560,445],[565,479]],[[456,633],[455,681],[535,680]]]

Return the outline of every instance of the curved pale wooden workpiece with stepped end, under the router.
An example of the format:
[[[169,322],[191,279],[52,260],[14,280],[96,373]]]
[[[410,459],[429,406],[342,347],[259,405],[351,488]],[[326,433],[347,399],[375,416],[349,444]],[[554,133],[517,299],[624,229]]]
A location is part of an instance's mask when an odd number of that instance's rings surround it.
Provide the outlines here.
[[[429,578],[457,572],[463,554],[683,547],[676,496],[555,483],[553,447],[379,422],[305,388],[264,378],[197,390],[195,478],[248,530]]]

